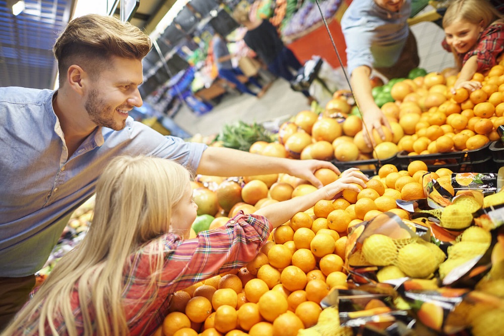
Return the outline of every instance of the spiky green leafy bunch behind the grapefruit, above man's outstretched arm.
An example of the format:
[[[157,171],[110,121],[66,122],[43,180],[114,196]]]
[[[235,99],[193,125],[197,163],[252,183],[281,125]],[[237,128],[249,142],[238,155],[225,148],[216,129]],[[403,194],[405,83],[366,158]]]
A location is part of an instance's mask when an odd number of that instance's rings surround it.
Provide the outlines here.
[[[250,146],[257,141],[273,142],[273,136],[262,124],[238,121],[224,125],[215,141],[222,141],[224,147],[248,152]]]

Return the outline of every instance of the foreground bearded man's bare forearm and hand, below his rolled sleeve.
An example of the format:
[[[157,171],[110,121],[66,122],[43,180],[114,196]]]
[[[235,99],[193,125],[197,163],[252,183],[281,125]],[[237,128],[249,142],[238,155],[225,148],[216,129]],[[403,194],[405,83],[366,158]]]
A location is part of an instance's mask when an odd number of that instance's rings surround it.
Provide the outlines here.
[[[322,187],[322,182],[313,174],[320,168],[329,168],[340,173],[329,161],[291,160],[252,154],[223,147],[209,147],[201,157],[198,174],[211,176],[254,176],[288,173]]]

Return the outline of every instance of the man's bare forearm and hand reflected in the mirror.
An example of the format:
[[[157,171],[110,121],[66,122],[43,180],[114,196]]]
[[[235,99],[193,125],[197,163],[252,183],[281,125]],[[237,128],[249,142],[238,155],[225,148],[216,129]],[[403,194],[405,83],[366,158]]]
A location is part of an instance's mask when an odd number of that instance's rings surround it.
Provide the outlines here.
[[[371,143],[374,144],[372,135],[373,129],[376,129],[379,136],[385,139],[385,133],[382,129],[382,125],[390,128],[389,121],[383,114],[382,110],[374,102],[373,96],[371,94],[371,82],[369,77],[371,75],[371,69],[366,65],[357,66],[352,71],[350,77],[350,84],[352,85],[353,94],[357,105],[362,113],[363,129],[362,135],[364,136],[365,143],[370,146]]]

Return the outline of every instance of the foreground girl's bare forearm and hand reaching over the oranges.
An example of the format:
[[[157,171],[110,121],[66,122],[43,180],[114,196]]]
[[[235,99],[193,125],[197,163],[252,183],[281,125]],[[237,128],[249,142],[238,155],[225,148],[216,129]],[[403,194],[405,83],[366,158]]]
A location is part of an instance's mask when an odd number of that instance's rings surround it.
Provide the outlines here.
[[[276,228],[290,220],[296,213],[313,207],[317,201],[337,197],[337,195],[344,189],[351,189],[359,192],[360,189],[357,185],[351,183],[357,183],[365,188],[366,185],[364,180],[367,181],[368,178],[360,173],[357,168],[350,168],[344,171],[338,180],[329,183],[314,192],[274,203],[259,209],[254,214],[266,217],[270,221],[271,225]]]

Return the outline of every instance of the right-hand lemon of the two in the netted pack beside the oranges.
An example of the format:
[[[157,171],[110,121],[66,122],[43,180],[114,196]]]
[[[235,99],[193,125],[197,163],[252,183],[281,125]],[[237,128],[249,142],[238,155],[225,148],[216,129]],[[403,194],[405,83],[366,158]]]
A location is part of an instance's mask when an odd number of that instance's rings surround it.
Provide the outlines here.
[[[430,248],[411,243],[399,250],[396,265],[408,277],[426,278],[435,272],[439,263]]]

